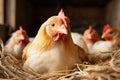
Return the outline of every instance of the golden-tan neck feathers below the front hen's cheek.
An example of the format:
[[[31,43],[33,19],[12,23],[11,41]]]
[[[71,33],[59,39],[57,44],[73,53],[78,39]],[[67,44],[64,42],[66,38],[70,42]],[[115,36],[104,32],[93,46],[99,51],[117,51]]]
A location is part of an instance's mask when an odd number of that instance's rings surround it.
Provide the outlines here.
[[[41,27],[31,46],[38,51],[45,51],[53,47],[53,44],[55,44],[55,42],[47,35],[45,27]]]

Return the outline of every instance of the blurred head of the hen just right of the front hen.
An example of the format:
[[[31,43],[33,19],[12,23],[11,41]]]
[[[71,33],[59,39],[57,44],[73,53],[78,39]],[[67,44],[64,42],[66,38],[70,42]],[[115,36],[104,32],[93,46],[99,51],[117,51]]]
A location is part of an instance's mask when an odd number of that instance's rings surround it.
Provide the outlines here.
[[[94,43],[100,40],[98,33],[96,32],[95,29],[92,28],[92,26],[89,26],[89,28],[85,30],[83,36],[87,43]]]

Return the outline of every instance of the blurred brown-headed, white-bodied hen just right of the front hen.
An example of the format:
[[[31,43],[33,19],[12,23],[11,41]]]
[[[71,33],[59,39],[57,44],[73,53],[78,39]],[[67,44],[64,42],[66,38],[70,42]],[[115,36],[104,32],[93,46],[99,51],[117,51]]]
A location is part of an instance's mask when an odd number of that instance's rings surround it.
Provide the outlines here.
[[[84,32],[84,39],[87,43],[89,53],[106,52],[111,49],[111,43],[100,40],[97,31],[92,26]]]

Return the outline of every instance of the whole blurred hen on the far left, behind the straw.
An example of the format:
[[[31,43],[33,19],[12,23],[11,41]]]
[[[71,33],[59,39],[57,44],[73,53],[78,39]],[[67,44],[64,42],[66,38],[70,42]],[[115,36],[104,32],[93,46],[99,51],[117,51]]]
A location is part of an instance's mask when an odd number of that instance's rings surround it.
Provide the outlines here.
[[[20,26],[19,30],[14,32],[5,45],[5,51],[11,53],[16,58],[22,58],[22,51],[29,42],[28,35]]]

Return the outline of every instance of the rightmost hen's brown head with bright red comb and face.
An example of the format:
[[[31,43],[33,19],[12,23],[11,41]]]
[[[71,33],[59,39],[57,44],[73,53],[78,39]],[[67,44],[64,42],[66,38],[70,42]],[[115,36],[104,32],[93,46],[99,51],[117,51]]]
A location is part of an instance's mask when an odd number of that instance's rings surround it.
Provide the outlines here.
[[[116,34],[117,30],[112,28],[109,24],[105,25],[102,32],[102,38],[106,41],[110,41]]]

